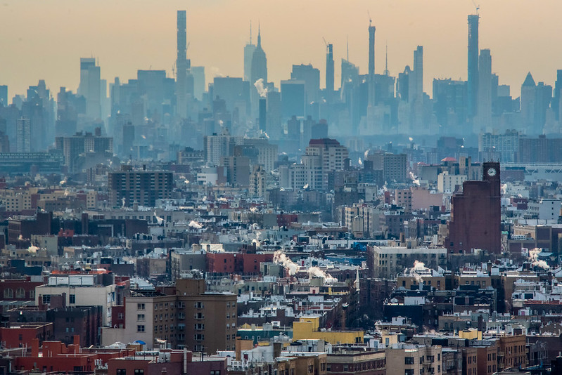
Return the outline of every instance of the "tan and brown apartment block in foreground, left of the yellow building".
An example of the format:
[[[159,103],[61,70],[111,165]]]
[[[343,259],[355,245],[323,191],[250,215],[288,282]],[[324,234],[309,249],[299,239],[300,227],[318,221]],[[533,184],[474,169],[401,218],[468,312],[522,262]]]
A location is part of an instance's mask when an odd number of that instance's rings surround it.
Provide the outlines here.
[[[177,279],[175,292],[136,291],[125,299],[124,328],[103,329],[102,342],[142,340],[205,353],[234,350],[236,294],[205,291],[204,279]]]

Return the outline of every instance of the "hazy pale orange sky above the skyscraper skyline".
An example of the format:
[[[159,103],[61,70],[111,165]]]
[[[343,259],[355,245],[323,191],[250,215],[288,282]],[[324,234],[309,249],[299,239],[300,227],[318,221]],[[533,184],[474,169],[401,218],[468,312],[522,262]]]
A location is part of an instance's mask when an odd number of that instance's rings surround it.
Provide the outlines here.
[[[478,1],[477,1],[478,4]],[[187,11],[188,56],[207,81],[241,77],[253,20],[262,25],[269,79],[288,79],[292,64],[312,63],[324,86],[326,47],[334,45],[336,88],[349,37],[350,60],[367,68],[369,16],[376,26],[377,73],[397,75],[424,48],[424,91],[433,77],[466,79],[466,15],[471,0],[4,0],[0,1],[0,84],[8,96],[45,79],[51,91],[75,91],[79,58],[99,59],[108,81],[138,69],[167,70],[176,57],[176,11]],[[554,86],[562,69],[561,0],[480,0],[480,48],[492,50],[492,72],[518,96],[530,71]]]

